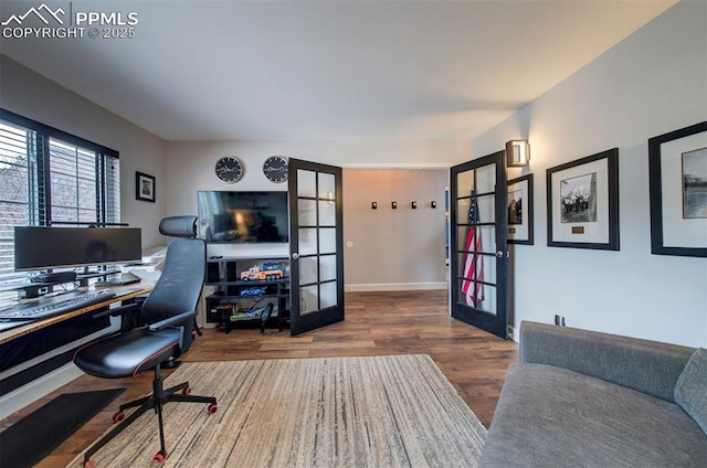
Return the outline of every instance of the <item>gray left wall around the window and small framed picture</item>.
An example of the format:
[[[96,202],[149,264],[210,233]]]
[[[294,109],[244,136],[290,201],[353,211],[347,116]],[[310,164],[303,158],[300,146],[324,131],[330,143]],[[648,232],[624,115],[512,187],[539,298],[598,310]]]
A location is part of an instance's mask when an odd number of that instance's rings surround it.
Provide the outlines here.
[[[160,138],[4,55],[0,55],[0,106],[119,151],[122,221],[143,228],[144,248],[166,244],[157,231],[167,193]],[[155,203],[135,200],[135,171],[157,178]]]

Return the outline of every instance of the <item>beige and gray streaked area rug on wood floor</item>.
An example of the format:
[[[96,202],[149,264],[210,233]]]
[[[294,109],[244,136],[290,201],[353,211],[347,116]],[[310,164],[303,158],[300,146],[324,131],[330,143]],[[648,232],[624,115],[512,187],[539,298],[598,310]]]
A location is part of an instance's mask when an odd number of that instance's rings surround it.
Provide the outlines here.
[[[475,467],[486,438],[424,354],[184,363],[165,386],[187,380],[219,410],[167,404],[165,467]],[[93,460],[154,468],[158,450],[148,412]]]

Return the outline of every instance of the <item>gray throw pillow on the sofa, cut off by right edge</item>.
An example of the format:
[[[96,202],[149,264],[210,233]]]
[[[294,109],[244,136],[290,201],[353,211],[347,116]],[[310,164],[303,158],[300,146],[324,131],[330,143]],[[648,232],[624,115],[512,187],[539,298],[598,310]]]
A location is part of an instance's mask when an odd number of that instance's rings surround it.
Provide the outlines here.
[[[707,349],[699,348],[675,385],[675,401],[707,434]]]

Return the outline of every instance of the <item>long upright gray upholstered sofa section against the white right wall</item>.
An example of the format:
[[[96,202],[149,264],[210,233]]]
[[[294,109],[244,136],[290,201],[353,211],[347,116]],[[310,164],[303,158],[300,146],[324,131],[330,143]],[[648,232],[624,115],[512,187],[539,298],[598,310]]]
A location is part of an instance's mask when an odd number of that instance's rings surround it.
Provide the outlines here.
[[[637,338],[524,321],[520,362],[568,369],[669,402],[695,349]]]

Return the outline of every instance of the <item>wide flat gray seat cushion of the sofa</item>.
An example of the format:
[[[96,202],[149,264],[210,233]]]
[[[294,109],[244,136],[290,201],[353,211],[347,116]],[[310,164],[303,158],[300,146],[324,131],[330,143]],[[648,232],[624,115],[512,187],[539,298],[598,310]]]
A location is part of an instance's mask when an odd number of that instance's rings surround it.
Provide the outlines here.
[[[513,364],[479,467],[700,467],[707,437],[675,403],[546,364]]]

